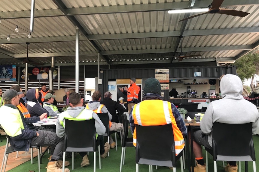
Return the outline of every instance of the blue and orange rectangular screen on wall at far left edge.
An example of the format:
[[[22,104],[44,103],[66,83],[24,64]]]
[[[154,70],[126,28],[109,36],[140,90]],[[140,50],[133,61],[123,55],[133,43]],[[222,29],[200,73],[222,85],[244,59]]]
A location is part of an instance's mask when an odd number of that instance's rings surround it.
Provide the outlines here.
[[[0,81],[16,81],[16,65],[0,65]]]

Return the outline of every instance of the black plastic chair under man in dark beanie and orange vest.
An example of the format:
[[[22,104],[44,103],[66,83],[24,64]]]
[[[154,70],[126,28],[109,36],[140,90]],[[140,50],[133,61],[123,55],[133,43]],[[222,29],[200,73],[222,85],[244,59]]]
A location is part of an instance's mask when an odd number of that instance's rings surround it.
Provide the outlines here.
[[[182,151],[175,156],[175,141],[172,124],[158,126],[140,126],[136,124],[137,146],[136,146],[136,172],[139,164],[159,165],[174,167],[176,161],[181,160],[181,171],[183,172]]]

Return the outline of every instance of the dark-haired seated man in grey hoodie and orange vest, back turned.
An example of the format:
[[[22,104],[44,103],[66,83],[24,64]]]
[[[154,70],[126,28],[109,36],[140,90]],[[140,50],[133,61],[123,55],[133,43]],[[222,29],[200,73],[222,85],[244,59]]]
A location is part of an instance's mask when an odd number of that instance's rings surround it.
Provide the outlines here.
[[[95,113],[106,113],[108,112],[109,120],[110,120],[110,131],[121,131],[121,134],[123,136],[124,130],[123,130],[123,124],[121,123],[116,123],[116,122],[111,122],[112,116],[106,106],[100,103],[101,98],[102,98],[102,93],[100,91],[95,91],[93,92],[92,95],[93,101],[90,101],[86,105],[86,109],[91,109]],[[112,137],[109,137],[110,141],[110,147],[114,148],[116,146],[116,143],[112,140]]]

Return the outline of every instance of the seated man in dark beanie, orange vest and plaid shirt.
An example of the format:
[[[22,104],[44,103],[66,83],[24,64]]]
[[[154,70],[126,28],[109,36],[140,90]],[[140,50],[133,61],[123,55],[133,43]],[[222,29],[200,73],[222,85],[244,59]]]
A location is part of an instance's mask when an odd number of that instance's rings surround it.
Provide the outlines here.
[[[133,134],[133,145],[136,146],[135,124],[142,126],[172,124],[175,139],[175,155],[184,148],[184,136],[187,129],[176,106],[163,101],[160,82],[155,78],[145,81],[144,96],[141,103],[136,104],[130,113],[130,129]],[[170,168],[171,169],[171,168]]]

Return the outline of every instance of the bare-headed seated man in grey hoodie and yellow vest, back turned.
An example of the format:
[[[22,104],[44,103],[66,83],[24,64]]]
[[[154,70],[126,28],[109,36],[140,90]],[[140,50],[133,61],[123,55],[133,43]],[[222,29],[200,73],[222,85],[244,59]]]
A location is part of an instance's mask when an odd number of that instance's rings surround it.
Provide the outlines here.
[[[105,133],[105,126],[102,124],[102,121],[100,118],[94,113],[92,110],[85,109],[83,106],[83,99],[81,96],[76,93],[72,92],[69,95],[69,105],[71,107],[68,107],[66,111],[60,113],[57,124],[56,124],[56,133],[59,137],[65,136],[65,119],[66,118],[75,118],[77,120],[89,120],[94,119],[95,120],[95,127],[96,127],[96,133],[98,134],[98,137],[96,140],[100,140],[100,154],[101,158],[105,158],[110,150],[110,145],[108,142],[104,144],[103,141],[103,134]],[[90,165],[87,152],[80,152],[79,153],[82,156],[82,162],[81,167]]]

